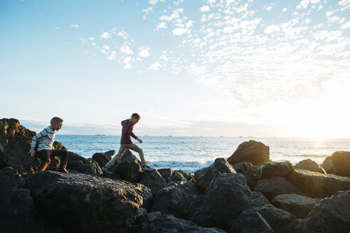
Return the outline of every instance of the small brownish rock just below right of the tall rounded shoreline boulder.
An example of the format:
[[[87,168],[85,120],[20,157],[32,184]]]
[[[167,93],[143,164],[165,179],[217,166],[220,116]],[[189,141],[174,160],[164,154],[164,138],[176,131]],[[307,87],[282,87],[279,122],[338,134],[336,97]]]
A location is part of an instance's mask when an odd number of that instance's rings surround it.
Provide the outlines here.
[[[258,177],[259,179],[272,178],[274,176],[287,178],[293,170],[294,168],[291,163],[270,161],[260,166]]]

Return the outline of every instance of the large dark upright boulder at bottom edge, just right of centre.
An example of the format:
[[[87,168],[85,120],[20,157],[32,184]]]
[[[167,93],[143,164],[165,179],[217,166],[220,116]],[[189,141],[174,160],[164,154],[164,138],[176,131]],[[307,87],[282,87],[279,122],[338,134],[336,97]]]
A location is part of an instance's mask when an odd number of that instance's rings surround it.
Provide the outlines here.
[[[191,211],[191,220],[202,227],[228,230],[231,220],[250,208],[251,192],[243,175],[216,173],[206,189],[203,205]]]

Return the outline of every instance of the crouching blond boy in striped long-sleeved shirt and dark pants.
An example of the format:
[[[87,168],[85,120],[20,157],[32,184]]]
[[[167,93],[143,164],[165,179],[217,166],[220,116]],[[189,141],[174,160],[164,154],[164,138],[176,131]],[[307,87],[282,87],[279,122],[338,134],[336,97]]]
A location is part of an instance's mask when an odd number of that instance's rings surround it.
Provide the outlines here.
[[[33,157],[36,153],[35,146],[36,142],[40,139],[38,144],[38,156],[41,158],[41,165],[38,168],[38,171],[45,170],[46,167],[50,164],[51,156],[62,156],[62,161],[60,161],[60,171],[61,173],[68,173],[67,170],[65,170],[65,167],[67,166],[68,161],[68,151],[65,150],[55,150],[53,147],[53,141],[55,141],[55,134],[57,133],[60,128],[62,128],[63,119],[60,119],[60,117],[53,117],[50,121],[51,126],[48,126],[48,128],[43,129],[40,133],[36,134],[36,136],[33,136],[33,139],[31,140],[31,150],[29,153]]]

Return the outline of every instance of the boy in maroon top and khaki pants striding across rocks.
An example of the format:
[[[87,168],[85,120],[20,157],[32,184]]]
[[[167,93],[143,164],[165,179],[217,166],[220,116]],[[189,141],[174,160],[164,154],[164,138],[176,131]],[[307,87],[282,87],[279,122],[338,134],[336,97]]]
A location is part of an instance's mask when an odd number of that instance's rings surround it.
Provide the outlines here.
[[[147,166],[146,161],[144,161],[144,150],[137,146],[136,144],[132,143],[131,136],[139,141],[139,143],[142,143],[142,140],[139,139],[132,130],[134,129],[134,125],[139,122],[140,116],[137,113],[132,114],[131,119],[126,119],[122,121],[122,138],[120,139],[120,149],[116,156],[114,156],[103,168],[102,170],[105,173],[112,174],[110,171],[110,168],[114,166],[115,162],[122,158],[124,152],[127,149],[130,149],[132,151],[137,151],[139,153],[139,158],[141,158],[141,168],[142,170],[153,170],[149,166]]]

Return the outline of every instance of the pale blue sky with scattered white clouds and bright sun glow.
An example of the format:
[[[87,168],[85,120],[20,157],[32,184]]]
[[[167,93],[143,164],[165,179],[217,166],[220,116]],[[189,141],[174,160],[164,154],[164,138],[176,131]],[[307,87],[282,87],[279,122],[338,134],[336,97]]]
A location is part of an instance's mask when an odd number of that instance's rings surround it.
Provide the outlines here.
[[[350,138],[350,0],[0,1],[0,118]]]

